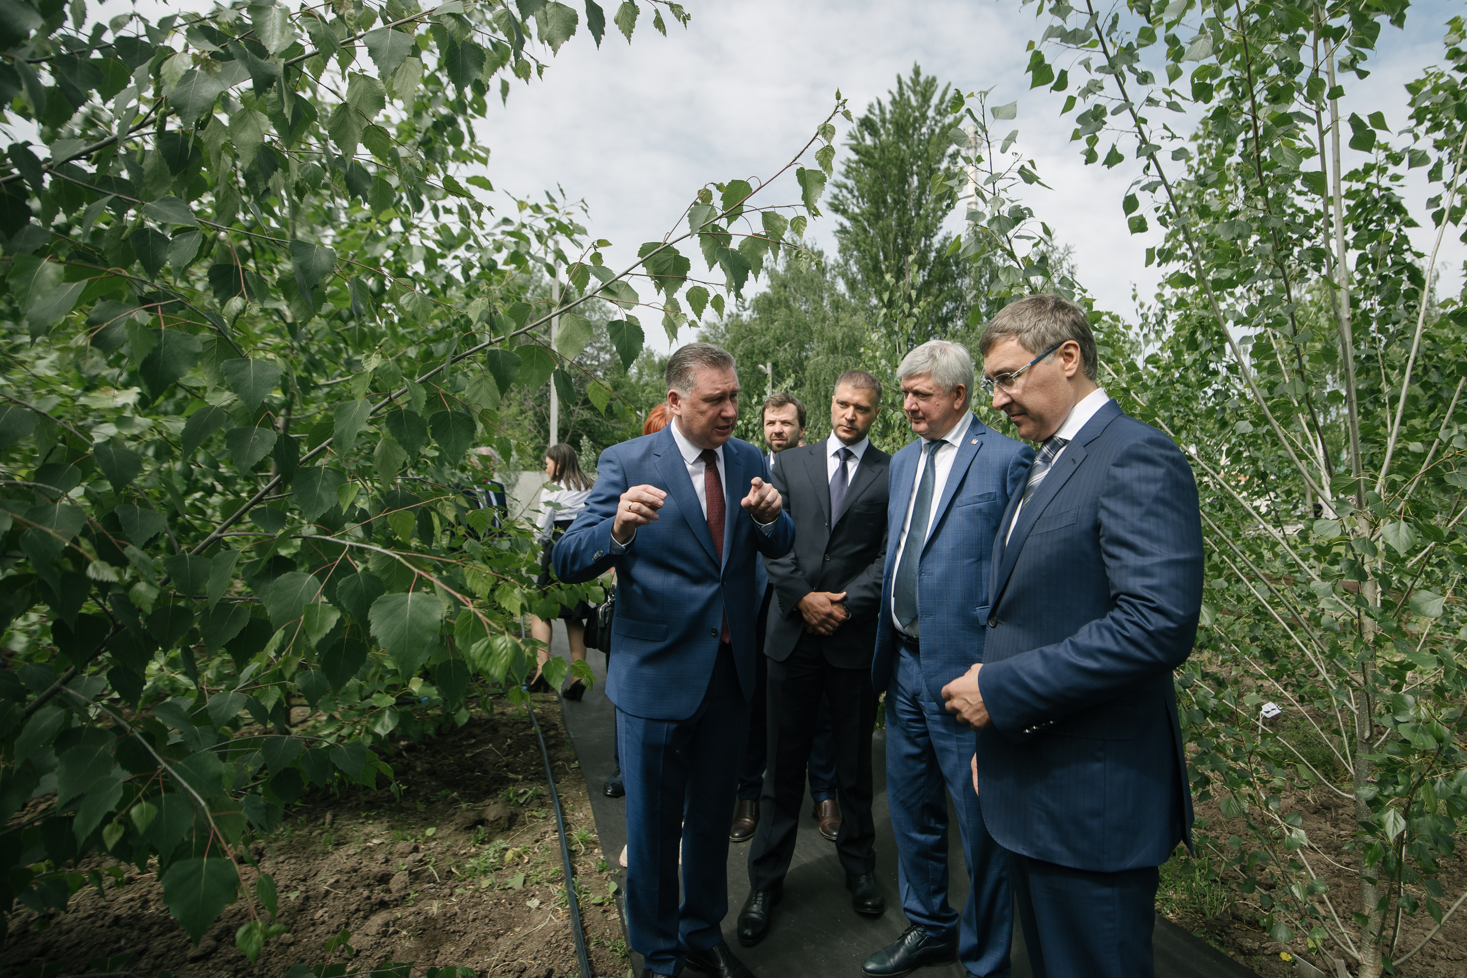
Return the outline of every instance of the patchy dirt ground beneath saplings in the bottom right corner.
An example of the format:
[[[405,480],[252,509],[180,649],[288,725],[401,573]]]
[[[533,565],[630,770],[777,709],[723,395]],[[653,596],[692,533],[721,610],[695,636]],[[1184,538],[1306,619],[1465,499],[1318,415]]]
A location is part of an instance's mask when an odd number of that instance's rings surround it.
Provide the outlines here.
[[[1345,852],[1342,846],[1353,839],[1354,833],[1353,802],[1335,796],[1325,787],[1288,793],[1282,802],[1282,815],[1297,811],[1303,817],[1303,828],[1310,842],[1304,855],[1314,871],[1329,883],[1328,894],[1344,918],[1350,909],[1358,906],[1358,883],[1353,872],[1332,864],[1351,865],[1354,853]],[[1234,834],[1241,836],[1245,831],[1244,820],[1222,818],[1216,802],[1199,805],[1197,817],[1207,821],[1207,826],[1197,833],[1199,856],[1212,855],[1215,864],[1221,864],[1222,861],[1216,858],[1218,852],[1229,852],[1225,845],[1226,839]],[[1212,845],[1204,845],[1203,839],[1210,840]],[[1174,859],[1174,862],[1177,861]],[[1228,899],[1218,884],[1203,887],[1184,877],[1168,874],[1166,868],[1162,872],[1163,886],[1157,900],[1162,912],[1263,978],[1282,978],[1284,975],[1297,978],[1298,972],[1279,956],[1281,952],[1300,956],[1316,968],[1325,969],[1331,975],[1335,974],[1329,962],[1307,949],[1303,934],[1295,933],[1295,940],[1289,944],[1281,944],[1270,938],[1260,924],[1262,912],[1256,905]],[[1467,867],[1460,861],[1444,861],[1438,878],[1448,897],[1442,906],[1445,911],[1467,889]],[[1417,891],[1416,896],[1424,897],[1424,891]],[[1424,909],[1419,911],[1414,918],[1402,916],[1395,956],[1416,947],[1435,925],[1436,922]],[[1338,950],[1335,950],[1335,956],[1339,956]],[[1348,971],[1356,974],[1354,966]],[[1414,957],[1397,968],[1395,974],[1401,978],[1467,978],[1467,919],[1463,918],[1463,913],[1458,912],[1448,919],[1441,933]]]

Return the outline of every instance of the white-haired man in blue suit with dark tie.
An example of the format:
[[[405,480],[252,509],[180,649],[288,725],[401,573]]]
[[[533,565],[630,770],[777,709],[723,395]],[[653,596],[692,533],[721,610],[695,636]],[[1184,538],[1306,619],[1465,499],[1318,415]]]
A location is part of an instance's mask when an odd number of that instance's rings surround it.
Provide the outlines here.
[[[911,927],[866,959],[890,978],[958,959],[970,975],[1009,974],[1008,858],[968,789],[973,730],[943,710],[942,688],[983,658],[993,537],[1034,453],[971,412],[973,358],[923,343],[896,369],[920,438],[890,462],[886,570],[871,685],[886,692],[886,802]],[[948,905],[948,799],[973,886]]]

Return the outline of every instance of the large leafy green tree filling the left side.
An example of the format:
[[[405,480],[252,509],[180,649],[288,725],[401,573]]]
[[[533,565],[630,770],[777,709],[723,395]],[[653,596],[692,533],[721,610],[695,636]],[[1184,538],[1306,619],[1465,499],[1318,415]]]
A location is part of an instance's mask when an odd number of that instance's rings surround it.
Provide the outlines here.
[[[252,840],[390,780],[374,748],[475,685],[521,702],[522,614],[599,597],[531,588],[528,528],[455,488],[469,449],[537,452],[500,412],[547,383],[632,424],[606,350],[625,371],[638,311],[722,312],[802,235],[844,106],[760,182],[804,204],[654,201],[670,230],[610,268],[574,207],[478,199],[472,120],[676,3],[87,13],[0,16],[0,125],[34,133],[0,161],[0,913],[151,865],[195,941],[244,899],[255,959],[286,925]]]

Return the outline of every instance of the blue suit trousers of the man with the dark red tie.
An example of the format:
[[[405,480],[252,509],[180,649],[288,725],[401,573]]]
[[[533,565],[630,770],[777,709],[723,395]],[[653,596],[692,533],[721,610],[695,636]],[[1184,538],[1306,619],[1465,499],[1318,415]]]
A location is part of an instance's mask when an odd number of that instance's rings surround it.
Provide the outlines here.
[[[732,650],[719,647],[691,717],[648,720],[618,708],[616,730],[626,786],[628,937],[650,971],[676,975],[687,949],[707,950],[723,940],[729,818],[748,732]]]

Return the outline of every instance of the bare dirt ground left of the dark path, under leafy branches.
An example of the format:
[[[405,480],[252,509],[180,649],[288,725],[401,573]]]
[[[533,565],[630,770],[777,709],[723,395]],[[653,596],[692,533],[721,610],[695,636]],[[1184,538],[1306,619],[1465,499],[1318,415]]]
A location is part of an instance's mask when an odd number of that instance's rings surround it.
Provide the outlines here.
[[[556,696],[533,702],[565,809],[591,968],[621,978],[626,944],[585,782]],[[478,978],[577,975],[538,742],[524,710],[496,707],[494,716],[475,713],[436,738],[380,749],[396,771],[400,801],[386,786],[323,793],[252,846],[260,868],[274,877],[279,922],[290,928],[255,963],[235,947],[235,931],[249,919],[242,900],[194,947],[156,877],[129,865],[131,886],[79,891],[44,930],[35,930],[34,913],[18,912],[0,968],[38,978],[164,971],[279,978],[298,962],[332,960],[362,971],[414,962],[414,974],[456,965]],[[254,872],[246,869],[245,883],[254,886]]]

